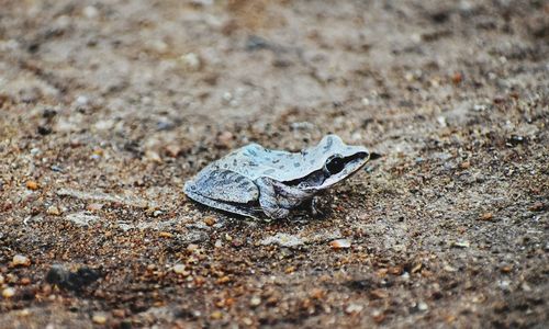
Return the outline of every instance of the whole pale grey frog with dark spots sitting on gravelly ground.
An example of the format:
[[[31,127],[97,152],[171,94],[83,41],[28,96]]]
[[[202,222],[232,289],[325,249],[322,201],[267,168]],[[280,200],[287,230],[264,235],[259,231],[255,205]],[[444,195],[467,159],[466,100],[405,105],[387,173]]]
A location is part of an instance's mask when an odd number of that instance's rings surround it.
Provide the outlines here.
[[[362,146],[345,145],[336,135],[301,152],[269,150],[249,144],[208,164],[184,184],[184,193],[208,206],[257,218],[285,218],[349,178],[370,159]]]

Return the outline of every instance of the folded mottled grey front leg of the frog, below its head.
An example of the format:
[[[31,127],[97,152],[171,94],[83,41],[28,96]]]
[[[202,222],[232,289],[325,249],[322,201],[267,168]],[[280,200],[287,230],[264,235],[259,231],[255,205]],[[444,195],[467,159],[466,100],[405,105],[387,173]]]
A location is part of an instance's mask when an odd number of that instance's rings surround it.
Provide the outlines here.
[[[288,186],[270,178],[259,178],[255,183],[259,188],[259,204],[265,214],[271,218],[288,217],[291,209],[312,197],[309,192]]]

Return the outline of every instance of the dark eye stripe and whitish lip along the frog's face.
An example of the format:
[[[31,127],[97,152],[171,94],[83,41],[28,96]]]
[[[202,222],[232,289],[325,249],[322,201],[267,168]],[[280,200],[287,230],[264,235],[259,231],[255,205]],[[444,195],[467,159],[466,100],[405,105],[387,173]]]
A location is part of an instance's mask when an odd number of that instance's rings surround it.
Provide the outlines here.
[[[344,157],[340,155],[329,158],[323,168],[285,184],[298,186],[301,190],[323,190],[337,182],[352,175],[362,168],[369,160],[370,154],[367,151],[356,152]]]

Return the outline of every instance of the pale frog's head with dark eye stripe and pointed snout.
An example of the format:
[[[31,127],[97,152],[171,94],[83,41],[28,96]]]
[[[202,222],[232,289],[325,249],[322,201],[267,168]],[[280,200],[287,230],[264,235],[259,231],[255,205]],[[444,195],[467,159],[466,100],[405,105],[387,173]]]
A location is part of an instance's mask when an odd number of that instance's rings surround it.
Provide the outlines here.
[[[321,191],[357,172],[368,162],[370,152],[366,147],[346,145],[338,136],[327,135],[306,150],[305,157],[315,159],[315,168],[295,183],[302,190]]]

